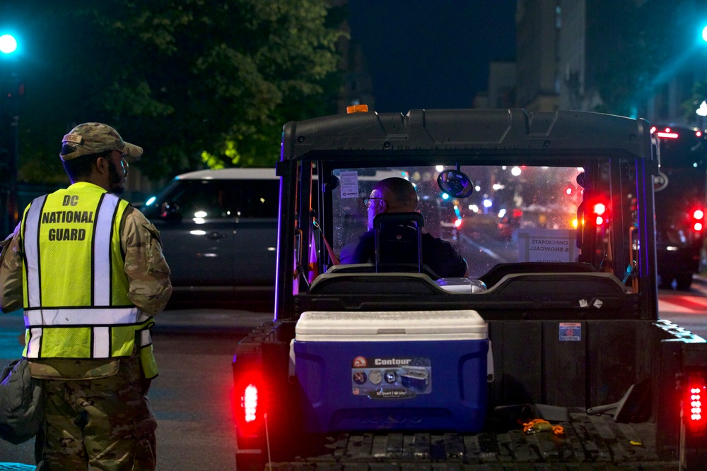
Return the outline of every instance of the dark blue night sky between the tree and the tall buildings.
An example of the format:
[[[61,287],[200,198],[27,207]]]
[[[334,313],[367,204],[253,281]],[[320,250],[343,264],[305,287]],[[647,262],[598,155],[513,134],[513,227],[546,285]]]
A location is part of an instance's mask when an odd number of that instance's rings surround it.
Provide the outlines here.
[[[515,0],[349,0],[378,112],[468,108],[489,61],[515,61]]]

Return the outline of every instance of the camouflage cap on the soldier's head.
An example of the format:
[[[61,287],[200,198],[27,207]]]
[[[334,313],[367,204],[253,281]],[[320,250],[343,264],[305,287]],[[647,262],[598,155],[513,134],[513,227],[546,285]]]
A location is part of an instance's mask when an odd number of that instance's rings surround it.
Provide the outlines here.
[[[127,143],[118,131],[102,123],[79,124],[62,139],[62,160],[71,160],[81,155],[98,154],[106,150],[119,150],[130,157],[142,155],[142,148]],[[69,150],[69,152],[66,152]]]

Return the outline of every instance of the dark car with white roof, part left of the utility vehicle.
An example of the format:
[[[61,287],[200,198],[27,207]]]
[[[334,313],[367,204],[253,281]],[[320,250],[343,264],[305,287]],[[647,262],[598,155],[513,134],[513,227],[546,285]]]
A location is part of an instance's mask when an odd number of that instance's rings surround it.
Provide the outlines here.
[[[141,208],[160,231],[175,294],[263,294],[275,285],[279,179],[274,168],[175,177]]]

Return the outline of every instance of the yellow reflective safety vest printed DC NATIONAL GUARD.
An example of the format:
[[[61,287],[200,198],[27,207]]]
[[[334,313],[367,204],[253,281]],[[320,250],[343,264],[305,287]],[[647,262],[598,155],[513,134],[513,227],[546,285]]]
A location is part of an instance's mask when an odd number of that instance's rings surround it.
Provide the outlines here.
[[[117,359],[139,346],[157,376],[155,321],[128,297],[120,222],[129,203],[76,183],[40,196],[22,219],[25,350],[28,359]]]

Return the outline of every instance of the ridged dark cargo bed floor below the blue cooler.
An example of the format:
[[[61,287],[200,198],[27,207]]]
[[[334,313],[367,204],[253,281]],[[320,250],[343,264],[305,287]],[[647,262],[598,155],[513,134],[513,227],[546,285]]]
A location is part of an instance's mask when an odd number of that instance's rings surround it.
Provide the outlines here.
[[[285,469],[621,470],[678,469],[658,460],[655,424],[620,424],[612,415],[571,414],[564,429],[526,434],[517,429],[479,434],[342,433],[323,437],[307,458],[273,463]]]

